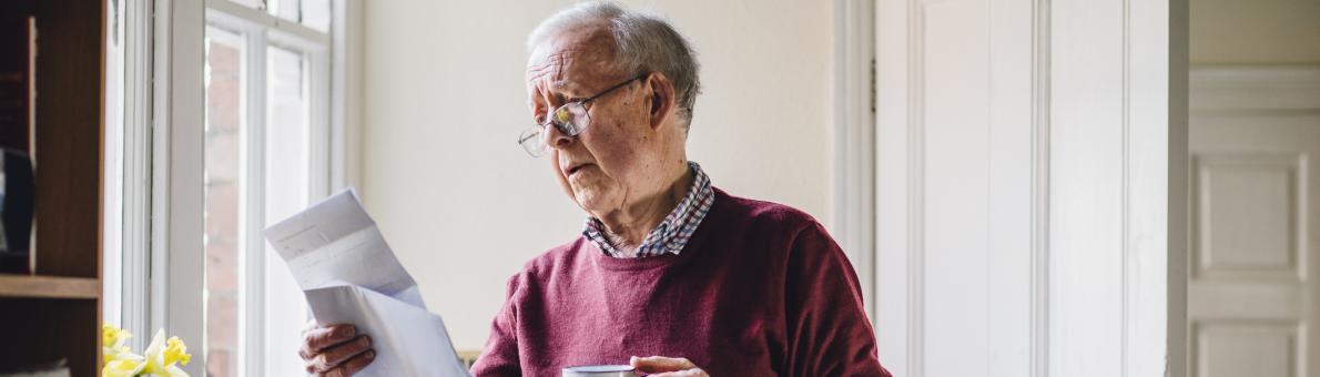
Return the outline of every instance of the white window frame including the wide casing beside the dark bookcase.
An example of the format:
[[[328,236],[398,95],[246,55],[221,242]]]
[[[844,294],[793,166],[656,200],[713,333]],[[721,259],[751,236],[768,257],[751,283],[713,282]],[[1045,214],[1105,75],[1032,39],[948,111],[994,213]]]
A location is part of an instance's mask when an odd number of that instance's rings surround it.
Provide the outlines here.
[[[103,274],[107,301],[104,318],[136,336],[129,340],[133,349],[144,349],[157,328],[177,335],[194,345],[194,359],[183,366],[190,374],[201,376],[206,369],[205,348],[205,249],[203,249],[203,149],[205,141],[205,44],[206,29],[220,26],[243,32],[248,41],[244,70],[267,69],[265,46],[298,51],[304,57],[305,94],[308,100],[309,163],[314,169],[309,177],[309,200],[318,200],[331,188],[345,187],[356,174],[346,166],[355,166],[356,148],[346,137],[356,134],[356,123],[346,121],[346,115],[356,116],[354,95],[345,92],[342,83],[356,79],[354,71],[343,67],[345,24],[350,9],[360,8],[358,0],[331,0],[331,28],[318,32],[301,24],[286,21],[226,0],[206,1],[127,1],[112,3],[108,28],[120,34],[121,50],[115,51],[112,66],[121,80],[106,87],[107,124],[106,163],[108,185],[120,187],[116,200],[107,200],[103,239],[106,258]],[[355,17],[360,17],[354,14]],[[252,33],[259,30],[260,33]],[[260,47],[253,47],[260,46]],[[256,51],[260,50],[260,51]],[[253,54],[255,53],[255,54]],[[259,62],[259,63],[252,63]],[[345,74],[347,72],[347,74]],[[263,129],[265,124],[265,82],[246,84],[248,113],[244,123],[249,129]],[[253,98],[252,94],[257,96]],[[111,100],[114,99],[114,100]],[[121,117],[121,119],[120,119]],[[263,134],[249,133],[246,142],[259,144]],[[257,142],[253,142],[256,137]],[[264,153],[253,148],[252,153]],[[348,156],[348,153],[354,153]],[[251,156],[248,153],[247,156]],[[264,160],[248,158],[247,187],[264,187]],[[256,169],[251,169],[256,167]],[[351,177],[346,179],[346,177]],[[257,178],[257,179],[252,179]],[[264,227],[264,190],[251,190],[257,198],[244,202],[244,215],[255,221],[244,223],[246,232],[240,262],[244,274],[240,286],[240,373],[264,376],[267,349],[264,349],[264,278],[265,252],[260,229]],[[108,191],[112,192],[112,191]],[[112,235],[110,235],[112,233]],[[256,323],[243,323],[263,318]],[[292,355],[271,349],[272,355]]]

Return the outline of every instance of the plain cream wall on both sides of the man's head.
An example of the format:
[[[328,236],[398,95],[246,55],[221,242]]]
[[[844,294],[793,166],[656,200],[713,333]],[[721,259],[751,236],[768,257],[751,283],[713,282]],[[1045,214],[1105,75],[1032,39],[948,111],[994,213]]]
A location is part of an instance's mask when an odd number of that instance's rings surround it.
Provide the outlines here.
[[[524,38],[572,1],[363,1],[362,194],[459,349],[479,349],[528,258],[583,214],[529,124]],[[693,42],[705,94],[689,157],[717,187],[830,225],[832,1],[628,1]]]

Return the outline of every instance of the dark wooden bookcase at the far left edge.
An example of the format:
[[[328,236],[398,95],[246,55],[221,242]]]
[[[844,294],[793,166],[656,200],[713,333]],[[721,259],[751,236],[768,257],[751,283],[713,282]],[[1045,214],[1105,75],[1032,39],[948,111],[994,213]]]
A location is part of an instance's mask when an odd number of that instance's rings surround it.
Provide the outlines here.
[[[0,274],[0,328],[5,334],[0,366],[62,359],[73,376],[96,376],[106,1],[5,0],[0,12],[30,12],[37,25],[36,269],[32,274]]]

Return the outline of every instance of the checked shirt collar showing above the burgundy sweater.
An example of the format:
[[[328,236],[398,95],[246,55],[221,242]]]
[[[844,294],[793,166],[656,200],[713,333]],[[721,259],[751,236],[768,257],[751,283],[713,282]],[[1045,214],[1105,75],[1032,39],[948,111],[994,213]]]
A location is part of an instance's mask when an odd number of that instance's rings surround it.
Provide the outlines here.
[[[642,240],[642,245],[638,246],[635,257],[653,257],[664,253],[678,254],[688,245],[688,240],[692,239],[692,233],[697,229],[697,225],[701,224],[701,220],[710,211],[710,204],[715,196],[714,190],[710,187],[710,177],[706,177],[706,173],[701,170],[701,165],[697,165],[697,162],[688,161],[688,169],[692,170],[693,177],[692,186],[688,187],[688,194],[678,200],[673,211],[655,229],[647,233],[647,237]],[[610,244],[610,240],[605,236],[605,225],[597,218],[587,216],[582,236],[595,243],[606,256],[620,258],[634,257],[624,254]]]

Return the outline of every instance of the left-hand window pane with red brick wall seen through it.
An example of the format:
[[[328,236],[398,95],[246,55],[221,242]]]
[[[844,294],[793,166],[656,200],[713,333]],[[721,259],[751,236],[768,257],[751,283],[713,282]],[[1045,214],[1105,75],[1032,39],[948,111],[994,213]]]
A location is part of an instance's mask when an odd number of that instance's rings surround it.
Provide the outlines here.
[[[244,70],[240,36],[206,32],[206,373],[238,376]]]

